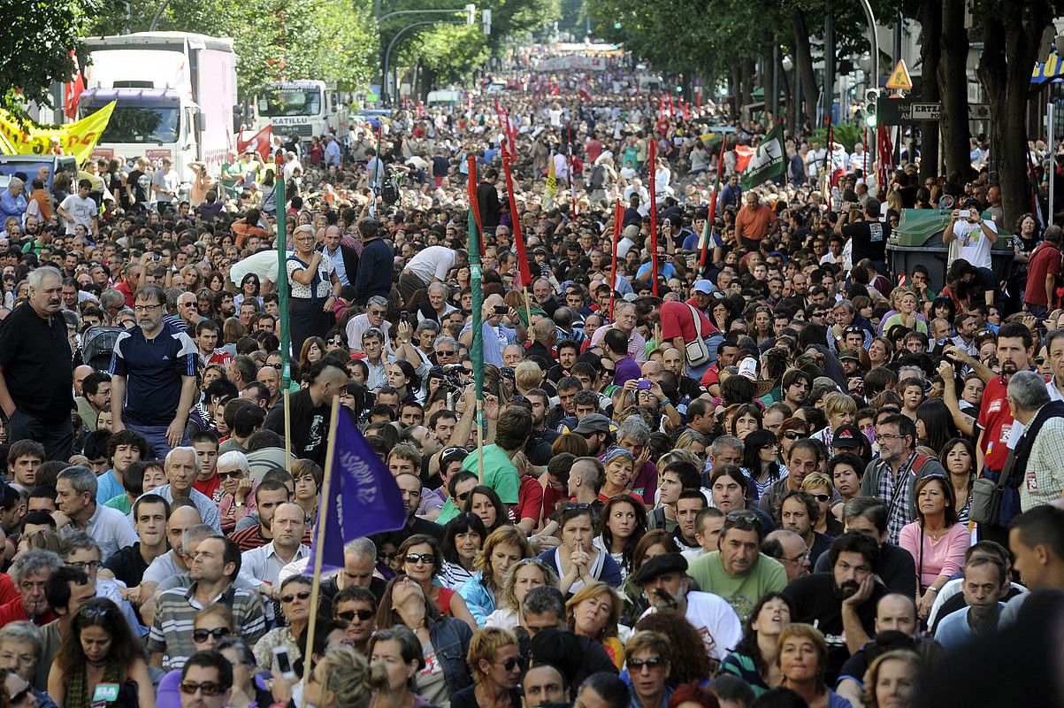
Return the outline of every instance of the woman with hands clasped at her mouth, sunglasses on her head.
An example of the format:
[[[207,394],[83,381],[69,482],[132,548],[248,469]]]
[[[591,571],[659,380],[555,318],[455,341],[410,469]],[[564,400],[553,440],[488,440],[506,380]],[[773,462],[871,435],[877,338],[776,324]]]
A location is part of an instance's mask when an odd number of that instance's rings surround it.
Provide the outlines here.
[[[561,545],[543,551],[538,558],[558,573],[559,590],[563,594],[575,593],[596,580],[611,588],[621,583],[617,561],[595,545],[595,512],[589,505],[563,507],[558,525]]]

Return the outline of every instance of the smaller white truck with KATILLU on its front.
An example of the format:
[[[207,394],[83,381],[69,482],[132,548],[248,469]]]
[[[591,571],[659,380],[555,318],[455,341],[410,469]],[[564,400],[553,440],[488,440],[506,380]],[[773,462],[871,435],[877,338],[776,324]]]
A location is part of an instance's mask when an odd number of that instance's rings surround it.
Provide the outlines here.
[[[255,130],[273,127],[273,135],[309,141],[340,129],[342,94],[323,81],[272,81],[255,99]]]

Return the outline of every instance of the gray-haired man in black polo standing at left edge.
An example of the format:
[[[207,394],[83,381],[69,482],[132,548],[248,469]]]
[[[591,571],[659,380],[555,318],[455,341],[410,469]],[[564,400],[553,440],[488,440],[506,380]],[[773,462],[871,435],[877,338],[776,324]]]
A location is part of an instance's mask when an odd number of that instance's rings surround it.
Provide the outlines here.
[[[27,277],[29,297],[0,330],[0,413],[7,443],[32,440],[49,460],[70,458],[73,445],[73,355],[63,307],[63,277],[52,266]]]

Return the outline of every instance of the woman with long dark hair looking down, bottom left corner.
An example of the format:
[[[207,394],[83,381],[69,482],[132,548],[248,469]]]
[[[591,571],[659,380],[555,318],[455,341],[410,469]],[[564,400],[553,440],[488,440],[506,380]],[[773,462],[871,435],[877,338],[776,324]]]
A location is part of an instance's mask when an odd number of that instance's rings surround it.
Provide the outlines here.
[[[63,708],[88,708],[98,686],[128,680],[136,685],[140,708],[154,708],[155,691],[143,644],[133,637],[121,610],[110,599],[85,600],[70,624],[48,672],[48,695]]]

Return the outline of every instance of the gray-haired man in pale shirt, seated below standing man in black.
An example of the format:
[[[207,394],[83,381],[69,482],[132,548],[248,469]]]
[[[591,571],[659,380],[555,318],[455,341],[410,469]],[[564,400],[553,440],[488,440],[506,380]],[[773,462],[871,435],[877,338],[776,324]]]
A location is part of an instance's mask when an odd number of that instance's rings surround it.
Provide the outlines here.
[[[60,536],[84,531],[100,546],[99,562],[105,563],[119,548],[139,539],[129,517],[117,509],[96,503],[96,474],[88,467],[67,467],[55,480],[55,513]]]

